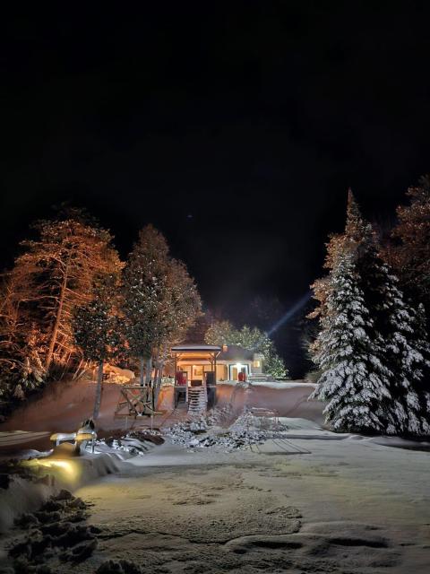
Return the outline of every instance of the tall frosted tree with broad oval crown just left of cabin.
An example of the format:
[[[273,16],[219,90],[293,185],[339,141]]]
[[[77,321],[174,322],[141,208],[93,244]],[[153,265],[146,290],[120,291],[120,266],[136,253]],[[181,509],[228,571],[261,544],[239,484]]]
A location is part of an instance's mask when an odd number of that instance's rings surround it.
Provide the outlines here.
[[[141,384],[144,361],[149,380],[154,356],[159,387],[168,347],[185,335],[199,315],[200,296],[185,265],[169,256],[166,239],[151,225],[139,234],[123,283],[125,336],[131,354],[140,360]]]

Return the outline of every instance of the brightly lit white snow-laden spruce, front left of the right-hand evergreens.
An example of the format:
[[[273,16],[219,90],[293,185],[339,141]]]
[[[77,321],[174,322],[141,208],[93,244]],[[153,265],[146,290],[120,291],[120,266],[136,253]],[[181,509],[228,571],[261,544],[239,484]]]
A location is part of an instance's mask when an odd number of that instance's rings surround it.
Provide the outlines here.
[[[374,321],[357,283],[355,257],[345,253],[331,274],[326,313],[314,344],[323,374],[310,398],[328,403],[324,414],[336,431],[383,432],[380,404],[391,398],[391,373],[380,361]]]

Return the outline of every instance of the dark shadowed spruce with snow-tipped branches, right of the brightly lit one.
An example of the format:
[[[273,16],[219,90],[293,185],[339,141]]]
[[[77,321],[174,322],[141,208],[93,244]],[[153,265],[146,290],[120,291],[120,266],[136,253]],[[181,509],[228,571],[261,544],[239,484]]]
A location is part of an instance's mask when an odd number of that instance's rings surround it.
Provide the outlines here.
[[[359,282],[368,308],[372,309],[375,336],[384,342],[381,359],[391,371],[391,401],[385,406],[386,431],[389,434],[423,434],[428,429],[423,389],[428,346],[425,326],[419,332],[417,311],[405,300],[398,278],[379,256],[374,231],[362,220],[357,204],[355,213],[361,225],[356,244]]]

